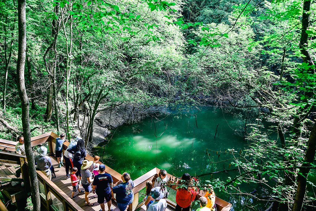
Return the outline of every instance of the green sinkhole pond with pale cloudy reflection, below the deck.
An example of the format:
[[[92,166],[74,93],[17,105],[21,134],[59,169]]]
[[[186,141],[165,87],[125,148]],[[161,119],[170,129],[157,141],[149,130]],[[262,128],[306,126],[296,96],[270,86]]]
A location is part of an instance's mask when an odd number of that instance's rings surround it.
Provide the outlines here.
[[[245,120],[240,116],[225,113],[215,107],[171,112],[112,130],[108,137],[109,142],[106,145],[100,143],[94,151],[100,157],[103,155],[102,161],[106,165],[119,173],[129,172],[132,179],[155,167],[166,169],[177,177],[186,172],[191,176],[198,176],[230,169],[232,160],[219,161],[232,156],[221,152],[232,148],[236,151],[245,150],[247,143],[243,138],[244,126]],[[228,171],[200,178],[211,180],[211,177],[222,176],[227,179],[235,175],[234,171]],[[249,186],[245,191],[251,192],[254,188]],[[234,197],[230,198],[221,192],[216,195],[236,204]]]

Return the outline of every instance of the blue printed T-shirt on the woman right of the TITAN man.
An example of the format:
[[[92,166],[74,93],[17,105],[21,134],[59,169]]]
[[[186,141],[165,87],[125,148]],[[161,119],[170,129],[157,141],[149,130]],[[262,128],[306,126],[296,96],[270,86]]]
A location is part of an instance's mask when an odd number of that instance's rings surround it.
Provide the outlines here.
[[[133,188],[133,180],[129,180],[127,183],[120,183],[113,187],[113,193],[116,193],[116,201],[119,203],[127,203],[132,201],[134,198],[134,193],[132,191]]]

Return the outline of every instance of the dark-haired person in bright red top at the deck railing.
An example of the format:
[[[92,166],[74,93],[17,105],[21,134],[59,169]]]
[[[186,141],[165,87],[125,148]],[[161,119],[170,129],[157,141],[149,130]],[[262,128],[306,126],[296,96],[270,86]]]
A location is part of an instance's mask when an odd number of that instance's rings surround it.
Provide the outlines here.
[[[178,188],[176,194],[177,206],[175,211],[189,211],[191,202],[194,201],[197,192],[195,187],[188,187],[192,185],[190,174],[185,173],[178,181],[179,185],[185,185],[185,188]]]

